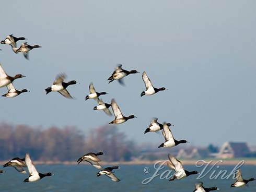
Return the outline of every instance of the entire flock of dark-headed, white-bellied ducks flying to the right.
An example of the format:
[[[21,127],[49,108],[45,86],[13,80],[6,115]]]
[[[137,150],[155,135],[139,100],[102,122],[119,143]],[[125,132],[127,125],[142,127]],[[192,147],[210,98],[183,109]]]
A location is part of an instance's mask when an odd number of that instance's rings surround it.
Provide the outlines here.
[[[11,46],[11,49],[14,51],[14,53],[18,54],[19,52],[22,52],[25,56],[26,59],[29,59],[29,52],[34,49],[34,48],[39,48],[41,46],[39,45],[29,45],[27,42],[22,43],[19,47],[17,47],[17,41],[20,40],[27,40],[24,37],[14,37],[13,34],[8,35],[5,40],[1,41],[1,44],[9,44]],[[124,85],[123,78],[131,75],[131,74],[137,74],[139,73],[137,70],[125,70],[122,68],[122,65],[118,65],[117,68],[113,71],[112,75],[108,78],[109,83],[113,82],[114,80],[117,80],[121,85]],[[9,76],[6,74],[6,72],[3,69],[3,66],[0,64],[0,88],[2,87],[7,87],[8,92],[4,95],[3,97],[7,98],[14,98],[17,97],[19,94],[24,93],[24,92],[29,92],[27,89],[22,89],[22,90],[17,90],[14,87],[14,80],[23,78],[25,77],[24,75],[17,74],[15,76]],[[77,81],[72,80],[65,82],[66,75],[65,74],[59,74],[56,76],[53,85],[45,89],[46,94],[50,92],[59,92],[62,94],[65,98],[72,99],[73,97],[71,94],[67,91],[67,87],[70,85],[75,85],[78,84]],[[141,93],[141,97],[144,95],[153,95],[158,93],[159,91],[164,91],[166,88],[161,87],[161,88],[155,88],[153,86],[152,81],[149,79],[148,75],[144,71],[142,73],[142,79],[145,83],[146,90]],[[97,92],[94,85],[90,83],[89,85],[89,94],[85,97],[85,100],[88,99],[94,99],[97,101],[97,106],[94,107],[94,110],[102,110],[105,112],[107,115],[111,116],[112,113],[110,111],[110,107],[113,111],[114,114],[114,119],[111,121],[109,124],[122,124],[128,121],[129,119],[136,118],[134,115],[129,115],[129,116],[124,116],[121,112],[121,109],[118,105],[118,103],[112,99],[111,103],[104,103],[102,99],[100,99],[100,95],[108,94],[107,92]],[[149,133],[149,132],[157,132],[161,131],[162,135],[164,136],[164,142],[162,142],[158,148],[164,147],[175,147],[181,143],[187,143],[188,141],[185,139],[182,140],[176,140],[174,139],[170,127],[173,127],[173,124],[170,123],[159,123],[158,118],[154,118],[151,122],[148,128],[144,131],[144,134]],[[96,174],[97,177],[101,175],[106,175],[108,176],[112,181],[114,182],[119,182],[120,179],[114,174],[113,170],[120,169],[119,166],[112,166],[112,167],[106,167],[103,168],[100,165],[100,155],[104,155],[103,152],[89,152],[80,157],[77,162],[78,164],[86,161],[90,163],[92,166],[94,166],[96,169],[99,170],[99,172]],[[185,170],[182,162],[176,159],[172,154],[168,155],[169,161],[167,161],[167,166],[171,169],[174,170],[175,174],[169,179],[169,181],[173,181],[174,179],[182,179],[185,177],[188,177],[190,175],[196,175],[198,174],[197,171],[188,171]],[[3,167],[14,167],[18,172],[26,174],[26,168],[28,169],[29,176],[24,180],[24,182],[36,182],[39,181],[40,179],[46,177],[46,176],[52,176],[54,174],[52,173],[39,173],[36,169],[36,167],[33,165],[29,153],[26,153],[25,158],[20,159],[20,158],[14,158],[7,162],[6,164],[3,165]],[[0,173],[4,173],[3,170],[0,170]],[[241,175],[241,170],[238,169],[235,172],[236,175],[236,181],[234,184],[231,184],[230,187],[242,187],[248,184],[251,181],[254,181],[254,178],[250,179],[243,179]],[[207,191],[212,191],[212,190],[218,190],[217,187],[211,187],[211,188],[206,188],[203,186],[203,183],[196,183],[195,184],[195,189],[194,192],[207,192]]]

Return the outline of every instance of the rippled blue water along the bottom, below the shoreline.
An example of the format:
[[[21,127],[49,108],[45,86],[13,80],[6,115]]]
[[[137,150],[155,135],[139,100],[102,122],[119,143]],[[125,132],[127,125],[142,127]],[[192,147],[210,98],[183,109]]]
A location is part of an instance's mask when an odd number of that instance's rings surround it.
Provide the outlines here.
[[[149,168],[149,173],[144,173],[145,167]],[[192,165],[184,166],[187,170],[202,171],[202,168],[198,168]],[[222,166],[218,169],[215,167],[216,174],[219,170],[226,169],[229,172],[234,166]],[[194,183],[202,181],[205,187],[217,186],[220,188],[218,191],[256,191],[256,181],[251,182],[249,186],[242,188],[230,188],[230,184],[234,182],[232,178],[229,179],[212,179],[210,180],[210,174],[207,174],[204,178],[196,180],[197,175],[189,176],[185,179],[169,182],[167,179],[160,179],[157,176],[152,182],[143,185],[142,181],[154,174],[154,165],[121,165],[120,170],[115,171],[115,175],[121,179],[119,183],[112,182],[110,178],[105,175],[97,177],[98,172],[92,166],[85,164],[80,165],[37,165],[39,172],[52,172],[55,176],[45,177],[38,182],[34,183],[22,183],[26,174],[16,172],[12,167],[7,167],[5,173],[0,174],[0,191],[177,191],[188,192],[194,190]],[[164,170],[159,171],[162,174]],[[208,170],[208,169],[207,169]],[[146,169],[146,171],[148,171]],[[256,166],[243,165],[242,175],[245,178],[256,177]]]

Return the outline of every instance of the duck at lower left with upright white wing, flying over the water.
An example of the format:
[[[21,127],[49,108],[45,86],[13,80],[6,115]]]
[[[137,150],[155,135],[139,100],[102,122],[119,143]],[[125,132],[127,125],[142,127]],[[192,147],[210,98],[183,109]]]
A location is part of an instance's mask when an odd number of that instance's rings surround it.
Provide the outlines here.
[[[38,173],[36,167],[33,165],[32,161],[31,161],[28,153],[26,153],[25,162],[26,162],[26,165],[28,166],[28,171],[29,171],[29,177],[24,180],[25,183],[26,182],[36,182],[36,181],[42,179],[43,177],[54,175],[52,173]]]

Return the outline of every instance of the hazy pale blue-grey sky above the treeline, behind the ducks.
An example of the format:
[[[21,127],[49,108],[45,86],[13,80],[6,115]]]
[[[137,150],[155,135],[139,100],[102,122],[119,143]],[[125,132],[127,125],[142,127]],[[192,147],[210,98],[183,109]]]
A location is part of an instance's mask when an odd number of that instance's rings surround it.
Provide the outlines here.
[[[112,121],[85,101],[90,82],[115,98],[124,115],[138,118],[119,125],[129,138],[161,143],[143,134],[152,117],[176,125],[176,139],[194,145],[248,141],[256,145],[255,1],[3,1],[1,40],[28,38],[40,49],[27,61],[0,45],[0,62],[9,75],[21,73],[14,99],[1,99],[1,122],[39,127],[75,125],[85,131]],[[20,45],[21,42],[18,42]],[[141,74],[126,87],[108,84],[121,63]],[[140,97],[142,72],[168,91]],[[44,89],[60,72],[79,85],[68,87],[76,100]],[[1,88],[1,95],[6,93]]]

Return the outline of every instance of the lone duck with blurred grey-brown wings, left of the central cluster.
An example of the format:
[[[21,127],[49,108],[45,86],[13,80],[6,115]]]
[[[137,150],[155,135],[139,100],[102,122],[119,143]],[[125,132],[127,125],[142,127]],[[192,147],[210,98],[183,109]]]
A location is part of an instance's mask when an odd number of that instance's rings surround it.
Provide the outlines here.
[[[65,98],[73,99],[73,97],[69,94],[66,88],[70,85],[78,84],[78,82],[76,82],[75,80],[64,82],[65,79],[66,79],[65,74],[57,75],[55,78],[55,81],[53,82],[53,85],[45,89],[46,94],[52,91],[57,91],[61,93]]]

